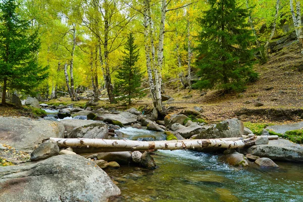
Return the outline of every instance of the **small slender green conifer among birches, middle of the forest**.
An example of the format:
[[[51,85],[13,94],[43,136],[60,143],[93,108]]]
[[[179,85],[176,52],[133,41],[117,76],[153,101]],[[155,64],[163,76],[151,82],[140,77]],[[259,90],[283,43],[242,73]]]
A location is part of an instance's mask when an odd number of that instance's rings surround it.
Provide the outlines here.
[[[135,39],[130,33],[124,46],[124,59],[118,71],[117,78],[119,80],[116,83],[116,91],[122,94],[121,99],[127,100],[128,104],[131,104],[132,98],[141,98],[144,95],[140,88],[142,73],[140,73],[140,68],[136,66],[139,59],[139,49],[134,41]]]

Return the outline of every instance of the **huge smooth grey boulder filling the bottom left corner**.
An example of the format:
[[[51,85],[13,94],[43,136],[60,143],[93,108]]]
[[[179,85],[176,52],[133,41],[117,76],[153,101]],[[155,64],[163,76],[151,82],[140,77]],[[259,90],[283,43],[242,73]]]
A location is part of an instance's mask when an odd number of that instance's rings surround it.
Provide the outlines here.
[[[2,201],[108,201],[120,194],[106,172],[78,155],[0,167],[0,189]]]

